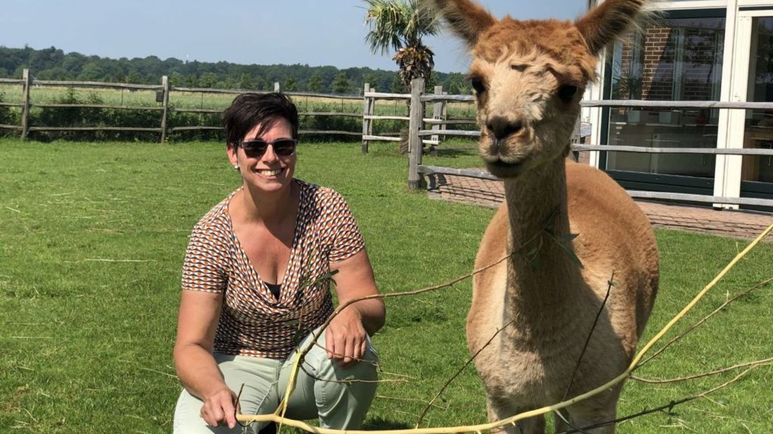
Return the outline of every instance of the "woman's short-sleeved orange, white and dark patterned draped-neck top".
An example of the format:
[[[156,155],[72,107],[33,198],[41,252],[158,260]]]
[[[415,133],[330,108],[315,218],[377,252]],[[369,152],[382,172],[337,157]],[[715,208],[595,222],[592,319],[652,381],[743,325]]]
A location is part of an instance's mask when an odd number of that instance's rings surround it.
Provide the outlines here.
[[[193,227],[182,266],[182,289],[224,293],[215,351],[286,358],[298,340],[332,314],[330,263],[364,248],[363,237],[338,192],[294,179],[301,198],[290,259],[277,300],[233,233],[228,204],[239,190]]]

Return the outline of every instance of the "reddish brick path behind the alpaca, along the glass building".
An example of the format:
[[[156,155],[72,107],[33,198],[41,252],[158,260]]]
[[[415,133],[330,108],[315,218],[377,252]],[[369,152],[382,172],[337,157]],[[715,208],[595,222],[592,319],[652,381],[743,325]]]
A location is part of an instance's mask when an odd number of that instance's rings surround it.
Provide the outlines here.
[[[441,200],[495,208],[505,198],[502,181],[455,175],[429,175],[427,185],[427,194],[431,198]],[[773,215],[766,213],[720,211],[646,201],[636,203],[649,216],[652,225],[690,232],[754,239],[773,223]],[[768,235],[765,241],[773,242],[773,234]]]

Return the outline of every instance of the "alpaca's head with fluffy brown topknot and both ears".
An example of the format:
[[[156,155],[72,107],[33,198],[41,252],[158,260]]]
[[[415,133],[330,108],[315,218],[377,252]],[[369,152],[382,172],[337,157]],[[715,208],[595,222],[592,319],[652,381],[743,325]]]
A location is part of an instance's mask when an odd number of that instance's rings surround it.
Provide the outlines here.
[[[577,22],[495,19],[470,0],[430,0],[472,53],[480,153],[510,178],[564,158],[596,56],[645,0],[607,0]]]

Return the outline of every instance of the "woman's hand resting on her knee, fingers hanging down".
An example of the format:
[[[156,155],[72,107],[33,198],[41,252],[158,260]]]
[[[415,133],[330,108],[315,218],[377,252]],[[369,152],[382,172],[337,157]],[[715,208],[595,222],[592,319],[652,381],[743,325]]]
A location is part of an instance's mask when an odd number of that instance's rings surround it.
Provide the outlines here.
[[[358,361],[367,348],[367,332],[363,327],[363,316],[352,305],[342,310],[330,321],[325,329],[325,350],[328,358],[341,366]]]

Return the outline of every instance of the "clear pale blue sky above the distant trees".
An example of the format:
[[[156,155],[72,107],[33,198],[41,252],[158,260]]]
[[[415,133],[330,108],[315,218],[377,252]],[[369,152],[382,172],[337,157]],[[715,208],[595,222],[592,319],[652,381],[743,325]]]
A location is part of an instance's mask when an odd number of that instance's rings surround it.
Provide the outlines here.
[[[0,46],[49,46],[103,57],[233,63],[308,63],[396,70],[364,42],[360,0],[2,0]],[[586,0],[484,0],[495,15],[575,19]],[[468,57],[445,32],[425,40],[435,70],[464,72]]]

